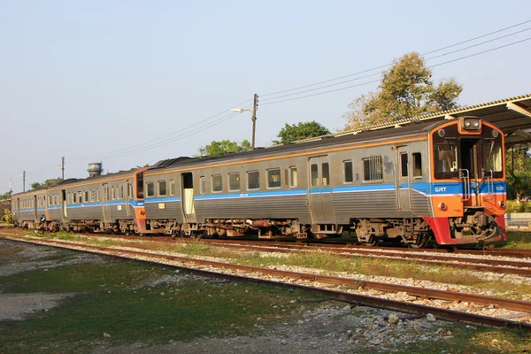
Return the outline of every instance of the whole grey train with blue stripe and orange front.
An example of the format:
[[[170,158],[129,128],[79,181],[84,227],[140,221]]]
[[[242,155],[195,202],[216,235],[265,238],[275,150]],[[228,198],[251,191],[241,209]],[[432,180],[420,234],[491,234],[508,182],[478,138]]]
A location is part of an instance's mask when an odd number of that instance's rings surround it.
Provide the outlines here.
[[[504,134],[460,117],[69,179],[12,196],[18,227],[126,235],[505,241]]]

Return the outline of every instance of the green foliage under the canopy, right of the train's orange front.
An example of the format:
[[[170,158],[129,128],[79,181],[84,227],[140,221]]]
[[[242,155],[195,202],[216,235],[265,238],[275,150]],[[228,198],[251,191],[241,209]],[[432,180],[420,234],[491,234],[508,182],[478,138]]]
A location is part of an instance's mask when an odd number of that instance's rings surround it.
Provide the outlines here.
[[[519,203],[531,190],[530,144],[514,145],[505,151],[507,198]]]

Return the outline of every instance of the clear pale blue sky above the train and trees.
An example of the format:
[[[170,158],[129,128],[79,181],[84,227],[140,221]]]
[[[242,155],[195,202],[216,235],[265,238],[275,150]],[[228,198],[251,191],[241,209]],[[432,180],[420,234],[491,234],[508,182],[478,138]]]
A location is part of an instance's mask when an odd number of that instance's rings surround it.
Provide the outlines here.
[[[528,0],[0,0],[0,194],[10,179],[22,191],[23,171],[26,189],[60,177],[61,157],[65,178],[85,178],[89,162],[112,173],[250,141],[250,112],[229,109],[250,108],[255,93],[257,146],[286,123],[334,131],[405,53],[525,21],[425,59],[435,83],[463,85],[461,105],[529,94],[531,41],[519,41],[531,38],[530,10]]]

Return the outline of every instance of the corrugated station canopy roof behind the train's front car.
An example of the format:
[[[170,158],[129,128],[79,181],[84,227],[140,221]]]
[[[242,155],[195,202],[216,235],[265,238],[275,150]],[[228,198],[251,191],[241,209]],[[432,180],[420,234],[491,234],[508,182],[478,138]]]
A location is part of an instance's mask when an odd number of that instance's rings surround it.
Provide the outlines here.
[[[505,135],[505,147],[510,147],[517,143],[531,142],[531,94],[501,99],[486,104],[459,107],[449,111],[429,113],[411,119],[396,119],[392,123],[347,130],[328,136],[358,134],[364,131],[404,127],[419,122],[435,122],[437,120],[458,119],[459,117],[470,116],[486,120],[502,129]],[[322,137],[317,139],[320,138]],[[304,139],[298,142],[312,140],[316,140],[316,138]]]

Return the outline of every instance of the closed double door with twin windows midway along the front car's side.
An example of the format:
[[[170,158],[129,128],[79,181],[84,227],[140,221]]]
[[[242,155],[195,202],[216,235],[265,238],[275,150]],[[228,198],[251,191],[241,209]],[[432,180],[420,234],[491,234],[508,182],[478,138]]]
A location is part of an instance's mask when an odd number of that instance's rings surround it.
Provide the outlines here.
[[[332,189],[330,187],[330,162],[327,156],[308,160],[310,176],[309,194],[312,220],[314,223],[334,221]]]

